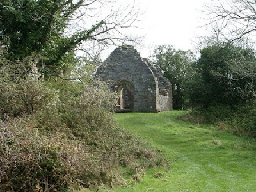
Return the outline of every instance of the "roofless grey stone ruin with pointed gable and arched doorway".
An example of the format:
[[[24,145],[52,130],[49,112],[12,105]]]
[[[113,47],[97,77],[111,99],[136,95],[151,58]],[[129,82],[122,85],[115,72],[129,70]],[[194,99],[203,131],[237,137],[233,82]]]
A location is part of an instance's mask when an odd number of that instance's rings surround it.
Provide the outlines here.
[[[96,76],[120,94],[118,110],[172,110],[172,85],[159,67],[141,58],[131,45],[116,48],[97,69]]]

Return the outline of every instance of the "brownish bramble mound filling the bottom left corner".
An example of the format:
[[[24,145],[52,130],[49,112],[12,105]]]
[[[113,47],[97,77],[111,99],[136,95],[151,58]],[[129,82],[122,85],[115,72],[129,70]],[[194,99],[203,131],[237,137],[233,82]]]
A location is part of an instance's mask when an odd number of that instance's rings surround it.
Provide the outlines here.
[[[77,187],[83,170],[93,171],[84,147],[65,134],[42,134],[31,121],[1,124],[1,191],[53,191]]]

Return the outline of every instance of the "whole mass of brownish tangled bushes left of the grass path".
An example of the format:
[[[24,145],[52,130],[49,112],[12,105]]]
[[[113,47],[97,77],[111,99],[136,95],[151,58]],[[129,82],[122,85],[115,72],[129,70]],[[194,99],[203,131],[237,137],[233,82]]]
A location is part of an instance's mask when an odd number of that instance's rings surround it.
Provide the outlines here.
[[[0,191],[112,186],[122,183],[118,166],[161,163],[114,122],[116,96],[106,84],[45,82],[23,64],[1,65]]]

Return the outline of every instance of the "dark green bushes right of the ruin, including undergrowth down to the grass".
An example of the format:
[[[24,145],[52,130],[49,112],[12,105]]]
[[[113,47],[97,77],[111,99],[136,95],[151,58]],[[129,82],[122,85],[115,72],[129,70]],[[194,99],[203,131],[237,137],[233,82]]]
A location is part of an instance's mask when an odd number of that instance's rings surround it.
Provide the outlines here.
[[[252,49],[230,43],[215,44],[200,51],[186,83],[186,97],[193,108],[189,118],[220,125],[222,130],[256,137],[255,75],[246,73],[255,66]]]

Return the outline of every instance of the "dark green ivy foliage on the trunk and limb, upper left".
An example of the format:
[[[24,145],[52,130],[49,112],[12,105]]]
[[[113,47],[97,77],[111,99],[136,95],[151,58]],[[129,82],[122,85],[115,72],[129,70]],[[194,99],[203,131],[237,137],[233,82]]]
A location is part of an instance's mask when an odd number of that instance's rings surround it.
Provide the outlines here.
[[[42,56],[36,65],[43,67],[44,72],[74,65],[77,62],[74,49],[81,42],[95,40],[95,36],[107,31],[102,28],[102,20],[83,30],[70,25],[70,20],[77,22],[80,8],[84,12],[94,3],[98,1],[1,1],[0,42],[8,47],[6,58],[15,61]],[[67,33],[67,28],[73,28],[72,32]]]

